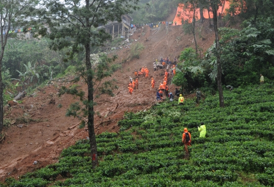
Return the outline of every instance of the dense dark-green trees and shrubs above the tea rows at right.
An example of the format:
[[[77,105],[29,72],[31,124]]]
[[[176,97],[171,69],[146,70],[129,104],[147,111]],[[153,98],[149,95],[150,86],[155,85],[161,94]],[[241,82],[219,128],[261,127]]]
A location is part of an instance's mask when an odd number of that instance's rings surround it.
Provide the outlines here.
[[[260,73],[266,82],[274,79],[274,30],[272,17],[243,22],[242,30],[222,27],[220,33],[220,58],[222,83],[233,87],[259,83]],[[203,56],[192,48],[180,55],[177,76],[173,82],[185,89],[204,87],[215,93],[216,52],[212,45]]]

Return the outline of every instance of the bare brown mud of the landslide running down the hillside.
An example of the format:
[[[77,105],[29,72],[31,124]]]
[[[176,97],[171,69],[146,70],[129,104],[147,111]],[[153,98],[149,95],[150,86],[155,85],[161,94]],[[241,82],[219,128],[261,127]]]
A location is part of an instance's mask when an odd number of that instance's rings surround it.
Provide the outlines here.
[[[208,28],[208,23],[201,25],[201,28],[203,38],[197,33],[197,40],[199,47],[205,50],[213,44],[214,31]],[[125,62],[122,69],[117,70],[113,76],[118,81],[119,89],[115,91],[117,94],[114,97],[101,95],[95,98],[95,111],[100,114],[95,115],[96,134],[104,131],[117,132],[117,122],[123,118],[125,111],[144,110],[155,102],[156,88],[163,79],[163,70],[153,71],[152,63],[156,58],[169,56],[173,59],[184,48],[194,47],[193,36],[185,35],[182,26],[170,26],[168,30],[163,27],[157,33],[146,26],[144,34],[141,31],[142,28],[139,28],[130,36],[133,43],[137,41],[144,44],[145,49],[140,59]],[[129,49],[119,49],[114,53],[119,55],[117,62],[121,62],[129,55]],[[148,67],[150,77],[153,76],[156,80],[156,88],[151,88],[150,78],[140,78],[139,89],[129,95],[129,76],[133,78],[133,71],[142,66]],[[23,104],[15,105],[8,111],[6,118],[19,120],[17,124],[23,124],[23,127],[16,125],[8,129],[5,141],[0,144],[0,180],[4,181],[10,176],[17,178],[26,172],[56,163],[64,148],[88,136],[86,128],[78,128],[77,119],[65,117],[67,107],[75,101],[73,96],[57,96],[58,89],[63,85],[71,85],[72,79],[73,77],[66,77],[55,80],[49,87],[38,91],[36,96],[24,98]],[[170,81],[169,79],[169,84]],[[87,90],[83,82],[78,84],[84,91]],[[174,92],[174,85],[169,88]],[[52,98],[55,103],[50,103]],[[62,107],[57,107],[59,104]],[[38,164],[33,165],[35,161]]]

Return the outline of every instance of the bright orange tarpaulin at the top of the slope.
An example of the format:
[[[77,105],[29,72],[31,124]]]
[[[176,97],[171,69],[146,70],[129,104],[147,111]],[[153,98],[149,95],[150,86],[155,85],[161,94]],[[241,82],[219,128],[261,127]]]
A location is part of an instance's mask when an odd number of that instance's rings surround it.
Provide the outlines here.
[[[225,9],[229,9],[229,2],[225,1],[225,4],[224,4],[224,8],[221,6],[219,7],[218,11],[217,11],[217,14],[219,15],[219,13],[224,13],[225,12]],[[208,10],[203,10],[203,17],[208,19],[209,18],[209,13],[208,13]],[[213,18],[213,13],[210,12],[210,17]],[[185,11],[184,10],[184,5],[183,4],[180,4],[177,8],[177,13],[176,13],[176,16],[173,20],[173,22],[177,22],[177,25],[182,25],[182,20],[188,20],[189,22],[192,22],[192,18],[193,18],[193,11]],[[196,19],[200,19],[200,11],[199,9],[196,10],[195,12],[195,18]]]

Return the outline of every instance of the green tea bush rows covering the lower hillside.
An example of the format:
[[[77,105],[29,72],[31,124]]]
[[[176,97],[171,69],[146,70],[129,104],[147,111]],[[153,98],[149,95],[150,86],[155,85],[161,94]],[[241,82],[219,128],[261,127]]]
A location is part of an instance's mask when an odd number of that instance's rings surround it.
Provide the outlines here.
[[[92,170],[87,140],[64,149],[59,162],[0,186],[273,186],[274,86],[224,91],[199,105],[162,102],[126,113],[117,133],[97,136],[99,166]],[[199,138],[204,122],[207,137]],[[184,159],[182,133],[192,136]],[[57,176],[64,179],[55,180]]]

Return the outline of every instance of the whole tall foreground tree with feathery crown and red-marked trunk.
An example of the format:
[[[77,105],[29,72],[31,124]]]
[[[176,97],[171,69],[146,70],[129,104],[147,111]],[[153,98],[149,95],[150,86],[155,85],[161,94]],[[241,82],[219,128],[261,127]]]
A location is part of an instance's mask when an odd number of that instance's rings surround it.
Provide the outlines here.
[[[52,40],[50,48],[59,50],[71,47],[70,57],[75,53],[85,51],[86,83],[88,86],[87,126],[91,148],[92,167],[98,164],[97,145],[94,132],[94,70],[90,59],[92,46],[102,46],[111,40],[110,34],[104,28],[109,21],[122,21],[122,15],[137,9],[139,0],[48,0],[43,3],[44,9],[38,10],[40,18],[46,20],[46,26],[51,32],[47,33],[45,24],[40,25],[38,34],[48,35]]]

